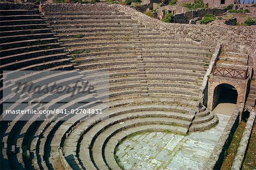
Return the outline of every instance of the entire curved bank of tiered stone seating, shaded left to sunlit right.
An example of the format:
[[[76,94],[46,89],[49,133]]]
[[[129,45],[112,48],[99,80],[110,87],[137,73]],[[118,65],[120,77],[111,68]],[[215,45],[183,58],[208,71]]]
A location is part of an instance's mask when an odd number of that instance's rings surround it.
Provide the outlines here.
[[[36,77],[44,72],[30,73],[12,82],[24,79],[51,86],[86,79],[100,93],[75,94],[72,99],[67,94],[10,94],[1,103],[17,99],[32,109],[48,110],[101,107],[109,115],[74,115],[69,121],[64,120],[70,114],[46,121],[35,121],[34,116],[20,121],[18,116],[6,122],[9,125],[1,128],[1,163],[7,168],[118,169],[114,148],[127,135],[147,130],[185,135],[216,125],[216,115],[206,108],[196,113],[197,102],[191,100],[198,96],[212,47],[176,42],[110,6],[63,6],[65,10],[58,5],[49,10],[51,5],[43,5],[44,17],[38,10],[1,10],[1,69],[72,70],[41,78]],[[81,10],[84,7],[90,10]],[[102,72],[109,72],[109,80]],[[1,87],[10,89],[15,90],[10,81]],[[44,99],[50,102],[42,107]]]

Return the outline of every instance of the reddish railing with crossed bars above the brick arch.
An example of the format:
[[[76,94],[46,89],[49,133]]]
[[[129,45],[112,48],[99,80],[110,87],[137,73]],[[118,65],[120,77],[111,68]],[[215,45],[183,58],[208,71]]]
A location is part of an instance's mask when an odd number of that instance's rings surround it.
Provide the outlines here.
[[[213,76],[246,79],[247,69],[242,70],[242,69],[213,66],[212,74]]]

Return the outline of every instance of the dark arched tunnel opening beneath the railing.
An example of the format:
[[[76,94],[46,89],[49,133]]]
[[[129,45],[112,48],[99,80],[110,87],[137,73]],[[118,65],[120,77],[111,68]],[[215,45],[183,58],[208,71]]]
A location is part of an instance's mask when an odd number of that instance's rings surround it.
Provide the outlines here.
[[[219,103],[237,103],[237,89],[229,84],[217,85],[213,92],[212,109],[214,109]]]

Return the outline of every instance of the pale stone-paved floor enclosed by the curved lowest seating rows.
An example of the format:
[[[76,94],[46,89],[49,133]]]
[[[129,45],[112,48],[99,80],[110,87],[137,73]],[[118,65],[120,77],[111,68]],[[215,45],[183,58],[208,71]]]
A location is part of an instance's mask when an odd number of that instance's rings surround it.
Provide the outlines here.
[[[116,155],[124,169],[202,169],[230,116],[217,114],[219,123],[187,136],[168,132],[143,132],[118,146]]]

